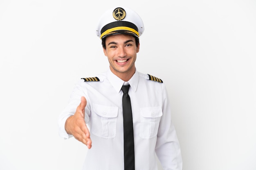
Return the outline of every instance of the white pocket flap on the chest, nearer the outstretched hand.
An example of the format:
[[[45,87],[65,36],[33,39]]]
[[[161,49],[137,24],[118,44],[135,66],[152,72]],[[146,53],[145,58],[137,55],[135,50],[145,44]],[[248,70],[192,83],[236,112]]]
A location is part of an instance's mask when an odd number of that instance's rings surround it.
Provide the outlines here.
[[[116,118],[118,115],[118,107],[93,104],[93,110],[103,118]]]

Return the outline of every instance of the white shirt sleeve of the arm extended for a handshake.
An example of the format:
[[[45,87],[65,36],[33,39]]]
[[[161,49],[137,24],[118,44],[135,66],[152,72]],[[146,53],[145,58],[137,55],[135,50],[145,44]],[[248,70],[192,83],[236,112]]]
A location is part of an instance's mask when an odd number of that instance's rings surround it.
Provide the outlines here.
[[[87,105],[85,108],[85,122],[89,122],[88,113],[90,113],[90,111],[88,109],[88,97],[86,96],[84,89],[81,87],[81,82],[82,81],[76,83],[73,92],[70,95],[70,99],[67,106],[65,107],[65,109],[63,109],[63,111],[58,117],[58,134],[60,137],[63,137],[64,139],[73,137],[73,135],[70,135],[65,131],[65,122],[67,118],[74,115],[74,113],[76,112],[76,108],[81,102],[81,96],[85,96],[85,98],[87,99]]]

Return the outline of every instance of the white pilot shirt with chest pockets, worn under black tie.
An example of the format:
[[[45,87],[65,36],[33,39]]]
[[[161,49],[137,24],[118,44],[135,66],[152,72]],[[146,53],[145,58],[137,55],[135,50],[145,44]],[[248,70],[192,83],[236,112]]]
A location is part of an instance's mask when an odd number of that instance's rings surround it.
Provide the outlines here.
[[[59,117],[59,135],[65,121],[74,115],[85,96],[85,122],[90,129],[92,148],[83,170],[123,170],[124,136],[122,85],[125,83],[110,69],[97,75],[100,81],[79,80],[70,102]],[[135,170],[157,170],[156,155],[164,170],[182,170],[180,144],[171,122],[171,107],[164,83],[149,80],[148,74],[135,72],[128,81],[132,106],[135,145]],[[156,153],[156,154],[155,154]]]

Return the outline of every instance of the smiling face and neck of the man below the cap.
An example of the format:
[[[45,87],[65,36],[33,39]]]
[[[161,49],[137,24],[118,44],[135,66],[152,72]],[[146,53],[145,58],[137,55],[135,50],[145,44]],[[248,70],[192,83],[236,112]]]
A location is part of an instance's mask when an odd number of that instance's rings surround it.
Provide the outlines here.
[[[139,44],[136,46],[132,35],[111,35],[106,37],[104,54],[108,57],[110,70],[119,78],[128,81],[135,73],[135,61]]]

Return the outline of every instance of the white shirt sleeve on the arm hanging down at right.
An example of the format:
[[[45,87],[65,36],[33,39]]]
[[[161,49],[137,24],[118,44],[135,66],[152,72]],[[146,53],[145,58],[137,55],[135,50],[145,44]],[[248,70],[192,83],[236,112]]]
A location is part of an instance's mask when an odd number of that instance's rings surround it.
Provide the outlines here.
[[[155,152],[164,170],[182,170],[180,144],[171,122],[171,106],[164,85],[163,98],[163,116],[159,124]]]

